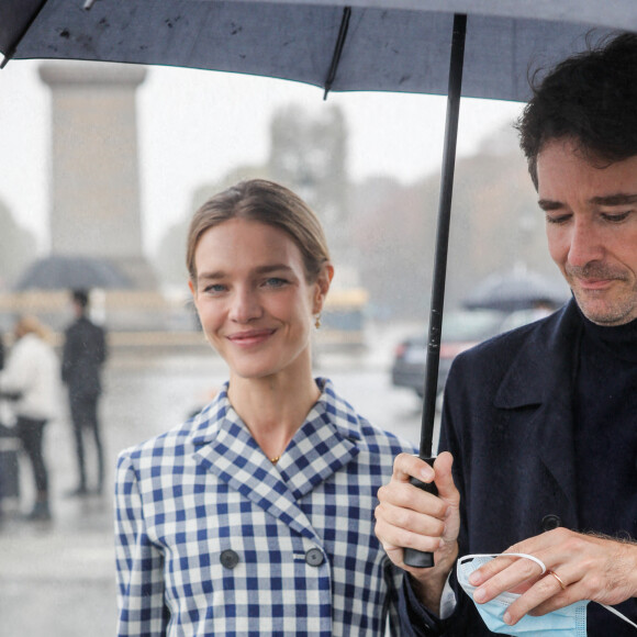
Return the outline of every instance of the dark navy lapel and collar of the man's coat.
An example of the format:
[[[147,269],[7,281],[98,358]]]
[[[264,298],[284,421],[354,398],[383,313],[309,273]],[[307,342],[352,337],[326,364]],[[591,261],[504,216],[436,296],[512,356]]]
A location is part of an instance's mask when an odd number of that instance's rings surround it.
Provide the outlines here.
[[[580,322],[571,301],[557,323],[545,323],[521,348],[495,395],[499,409],[537,405],[526,427],[526,448],[529,452],[537,450],[559,485],[573,524],[577,484],[572,395],[579,335]]]

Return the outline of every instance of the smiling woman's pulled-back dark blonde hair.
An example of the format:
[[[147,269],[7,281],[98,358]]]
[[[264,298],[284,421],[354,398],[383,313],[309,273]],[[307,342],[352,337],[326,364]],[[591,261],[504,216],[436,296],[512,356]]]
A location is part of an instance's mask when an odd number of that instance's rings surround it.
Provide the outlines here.
[[[231,219],[258,221],[286,232],[301,250],[308,282],[314,282],[329,260],[323,227],[310,206],[279,183],[252,179],[215,194],[194,213],[186,245],[186,266],[193,286],[199,241],[208,230]]]

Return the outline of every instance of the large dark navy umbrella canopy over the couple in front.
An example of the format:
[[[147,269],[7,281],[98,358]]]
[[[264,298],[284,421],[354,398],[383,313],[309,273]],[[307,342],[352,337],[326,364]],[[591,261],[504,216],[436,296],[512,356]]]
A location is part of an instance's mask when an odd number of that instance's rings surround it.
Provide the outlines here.
[[[3,0],[0,52],[446,94],[455,13],[477,98],[525,101],[529,64],[581,48],[592,26],[637,30],[634,0]]]

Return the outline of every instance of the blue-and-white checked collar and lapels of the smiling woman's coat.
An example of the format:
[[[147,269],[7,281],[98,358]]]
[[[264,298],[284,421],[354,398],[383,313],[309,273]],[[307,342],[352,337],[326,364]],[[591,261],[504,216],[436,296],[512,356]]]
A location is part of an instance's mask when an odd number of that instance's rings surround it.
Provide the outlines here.
[[[317,379],[322,394],[275,466],[264,455],[227,398],[227,383],[194,424],[194,458],[305,537],[317,537],[299,500],[355,458],[360,423],[332,383]]]

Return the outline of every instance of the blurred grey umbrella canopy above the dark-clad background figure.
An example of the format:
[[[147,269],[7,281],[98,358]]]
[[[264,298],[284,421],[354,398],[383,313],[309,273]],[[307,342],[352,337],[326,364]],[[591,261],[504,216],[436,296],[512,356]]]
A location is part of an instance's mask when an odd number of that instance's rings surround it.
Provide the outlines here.
[[[131,281],[107,259],[52,256],[33,262],[15,290],[90,290],[131,288]]]

